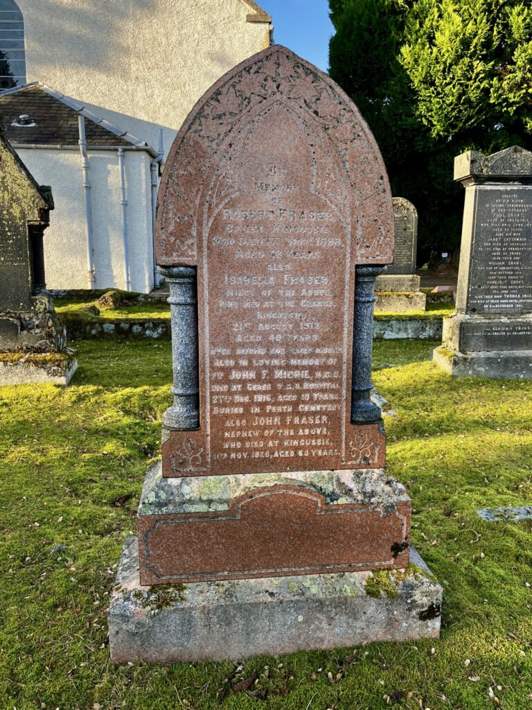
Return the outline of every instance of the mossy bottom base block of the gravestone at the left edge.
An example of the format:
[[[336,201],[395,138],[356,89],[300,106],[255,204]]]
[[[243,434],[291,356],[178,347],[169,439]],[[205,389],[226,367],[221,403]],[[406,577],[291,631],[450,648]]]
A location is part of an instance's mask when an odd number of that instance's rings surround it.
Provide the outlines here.
[[[76,352],[0,352],[0,386],[49,383],[67,386],[77,370]]]

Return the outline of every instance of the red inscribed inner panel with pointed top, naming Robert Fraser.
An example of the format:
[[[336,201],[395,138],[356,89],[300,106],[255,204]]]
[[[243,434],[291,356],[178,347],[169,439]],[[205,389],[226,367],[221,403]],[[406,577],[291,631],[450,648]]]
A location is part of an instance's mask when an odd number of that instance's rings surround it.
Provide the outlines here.
[[[341,455],[352,337],[350,214],[339,166],[279,104],[235,141],[209,195],[212,470],[231,471],[235,461],[318,467]]]

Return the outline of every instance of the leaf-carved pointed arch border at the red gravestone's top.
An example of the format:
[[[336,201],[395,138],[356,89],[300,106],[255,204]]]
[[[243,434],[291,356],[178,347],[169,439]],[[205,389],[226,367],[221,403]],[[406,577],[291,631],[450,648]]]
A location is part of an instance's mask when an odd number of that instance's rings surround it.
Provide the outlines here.
[[[260,111],[281,103],[326,137],[326,151],[335,153],[342,180],[348,185],[345,200],[357,214],[358,229],[353,239],[360,261],[391,261],[389,186],[382,158],[365,122],[355,105],[338,92],[328,77],[276,45],[247,65],[244,62],[235,67],[214,84],[179,131],[161,183],[157,263],[170,266],[178,261],[194,263],[201,258],[201,207],[209,174],[220,155],[238,139],[242,126],[250,126]],[[279,124],[278,132],[284,133],[281,138],[287,138],[283,124]],[[304,197],[305,180],[292,170],[287,157],[290,156],[270,155],[264,170],[248,185],[250,193],[278,199],[291,195]],[[235,175],[238,164],[230,165],[227,161],[216,186],[221,203],[240,189]],[[337,170],[328,173],[325,169],[315,177],[314,187],[327,199],[334,200],[338,192]],[[299,229],[301,225],[293,226]],[[306,231],[318,233],[314,229]]]

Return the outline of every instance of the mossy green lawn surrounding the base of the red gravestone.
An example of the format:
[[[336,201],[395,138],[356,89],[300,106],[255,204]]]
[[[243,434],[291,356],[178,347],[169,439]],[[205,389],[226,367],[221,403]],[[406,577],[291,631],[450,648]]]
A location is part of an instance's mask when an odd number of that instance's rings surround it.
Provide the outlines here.
[[[412,541],[445,589],[441,639],[240,665],[109,663],[106,606],[160,451],[170,342],[80,342],[69,388],[0,388],[0,709],[532,708],[531,521],[475,514],[531,502],[532,382],[452,379],[427,361],[434,345],[378,342],[374,381],[397,409],[389,473],[411,495]]]

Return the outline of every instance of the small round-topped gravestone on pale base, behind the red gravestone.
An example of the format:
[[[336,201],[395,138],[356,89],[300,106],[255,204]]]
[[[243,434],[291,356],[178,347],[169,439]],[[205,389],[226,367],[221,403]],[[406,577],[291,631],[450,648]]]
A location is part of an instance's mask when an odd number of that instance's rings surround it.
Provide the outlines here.
[[[420,278],[416,275],[416,250],[418,243],[418,212],[404,197],[394,197],[394,263],[386,273],[377,276],[376,312],[405,313],[425,310],[426,295],[419,290]]]

